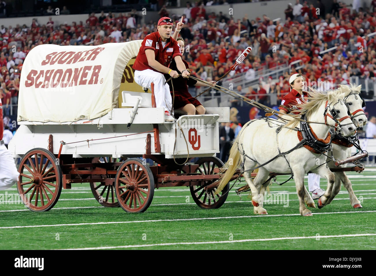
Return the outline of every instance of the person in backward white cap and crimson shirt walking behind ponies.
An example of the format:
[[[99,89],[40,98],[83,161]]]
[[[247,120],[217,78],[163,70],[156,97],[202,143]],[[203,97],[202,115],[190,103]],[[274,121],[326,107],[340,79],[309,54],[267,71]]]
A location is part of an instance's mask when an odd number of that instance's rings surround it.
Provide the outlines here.
[[[308,93],[304,91],[304,78],[301,74],[293,74],[289,80],[291,91],[283,97],[279,111],[282,113],[294,112],[297,110],[297,104],[303,103],[304,98],[308,97]],[[316,173],[308,174],[308,190],[312,192],[312,199],[319,199],[325,191],[320,188],[320,175]]]

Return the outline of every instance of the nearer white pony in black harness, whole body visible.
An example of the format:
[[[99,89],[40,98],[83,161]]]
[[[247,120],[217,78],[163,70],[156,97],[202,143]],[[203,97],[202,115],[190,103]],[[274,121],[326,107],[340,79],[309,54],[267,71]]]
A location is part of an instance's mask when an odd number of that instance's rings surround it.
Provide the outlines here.
[[[331,126],[337,127],[338,123],[343,136],[355,134],[356,127],[350,116],[341,116],[342,114],[347,115],[347,107],[342,101],[343,98],[343,94],[338,95],[332,92],[327,94],[309,92],[309,101],[299,105],[301,108],[300,114],[305,114],[307,121],[318,123],[311,123],[309,127],[319,141],[330,142],[329,128]],[[335,113],[340,116],[337,118],[334,116]],[[299,125],[297,119],[290,117],[290,120],[288,124],[284,125],[285,127],[294,128]],[[307,204],[308,207],[315,208],[314,201],[304,186],[305,173],[312,171],[325,177],[328,181],[329,190],[332,189],[335,181],[334,174],[326,166],[317,168],[318,161],[320,164],[326,161],[324,155],[315,154],[303,146],[267,163],[279,154],[279,150],[280,152],[287,152],[300,143],[297,131],[285,127],[280,128],[281,122],[275,120],[273,122],[274,127],[273,124],[271,124],[272,126],[269,125],[270,119],[262,118],[252,120],[243,126],[231,147],[229,160],[224,165],[226,172],[221,177],[217,193],[226,186],[237,167],[244,163],[243,176],[252,192],[253,211],[255,214],[267,214],[267,211],[262,207],[262,201],[259,199],[260,195],[264,195],[269,184],[269,181],[265,182],[269,172],[292,172],[299,196],[299,212],[302,216],[312,216],[311,211],[305,206]],[[278,133],[276,132],[277,129],[280,130]],[[261,164],[264,164],[264,166],[259,168],[255,179],[252,181],[252,169]]]

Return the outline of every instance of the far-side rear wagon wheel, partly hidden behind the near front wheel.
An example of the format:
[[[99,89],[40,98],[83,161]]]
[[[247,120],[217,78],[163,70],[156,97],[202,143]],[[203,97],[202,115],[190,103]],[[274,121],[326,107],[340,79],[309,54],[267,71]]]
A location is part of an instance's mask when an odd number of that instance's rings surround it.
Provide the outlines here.
[[[100,160],[99,160],[100,161]],[[117,163],[123,162],[124,158],[112,158],[112,157],[103,157],[104,163]],[[117,170],[119,166],[114,166],[113,170]],[[109,178],[115,178],[116,175],[108,175]],[[96,182],[90,183],[90,189],[94,198],[99,202],[100,205],[104,207],[119,207],[115,195],[115,182],[112,182],[112,185],[107,185],[105,182]]]

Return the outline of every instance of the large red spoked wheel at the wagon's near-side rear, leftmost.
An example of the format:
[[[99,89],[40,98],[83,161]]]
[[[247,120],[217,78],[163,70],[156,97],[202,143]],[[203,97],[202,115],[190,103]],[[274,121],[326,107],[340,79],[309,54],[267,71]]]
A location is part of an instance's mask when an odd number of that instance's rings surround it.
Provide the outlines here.
[[[62,189],[59,160],[43,148],[32,149],[18,166],[17,190],[23,204],[32,211],[48,211],[55,206]]]

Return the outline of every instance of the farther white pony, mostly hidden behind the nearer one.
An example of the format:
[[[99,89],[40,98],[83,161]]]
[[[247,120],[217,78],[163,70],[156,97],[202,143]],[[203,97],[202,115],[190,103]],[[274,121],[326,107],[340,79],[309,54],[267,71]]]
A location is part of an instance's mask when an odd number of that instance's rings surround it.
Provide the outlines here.
[[[351,119],[356,127],[363,127],[367,123],[367,116],[365,116],[362,107],[364,107],[365,103],[361,98],[360,90],[361,85],[355,86],[355,84],[347,85],[340,85],[339,89],[337,90],[339,93],[344,93],[344,103],[347,105]],[[346,145],[343,141],[338,139],[332,139],[332,155],[336,160],[343,160],[347,157],[351,156],[351,144]],[[329,152],[330,153],[330,152]],[[329,154],[331,155],[331,154]],[[329,160],[327,160],[329,161]],[[347,164],[344,164],[339,167],[346,167]],[[335,168],[334,162],[329,162],[330,168]],[[335,172],[335,182],[332,190],[326,190],[324,195],[317,202],[317,207],[322,208],[325,205],[331,203],[336,195],[341,190],[341,182],[343,182],[343,186],[347,189],[350,196],[350,203],[353,208],[362,208],[358,198],[356,198],[352,186],[351,181],[347,177],[346,173],[344,172]]]

